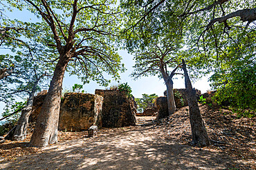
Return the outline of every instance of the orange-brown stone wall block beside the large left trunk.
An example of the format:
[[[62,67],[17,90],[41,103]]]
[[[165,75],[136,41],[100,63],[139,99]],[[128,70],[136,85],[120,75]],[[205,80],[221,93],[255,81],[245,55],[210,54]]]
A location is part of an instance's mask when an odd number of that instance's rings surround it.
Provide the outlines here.
[[[59,129],[87,130],[91,125],[102,126],[103,97],[94,94],[67,93],[62,99]]]

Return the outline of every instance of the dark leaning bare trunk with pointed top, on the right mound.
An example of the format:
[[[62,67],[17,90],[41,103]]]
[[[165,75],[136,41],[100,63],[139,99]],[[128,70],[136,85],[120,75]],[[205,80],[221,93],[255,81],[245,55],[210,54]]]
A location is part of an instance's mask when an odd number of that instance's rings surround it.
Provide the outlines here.
[[[201,112],[196,100],[196,91],[192,89],[192,84],[188,76],[188,71],[185,65],[185,61],[182,61],[182,68],[185,75],[185,88],[188,98],[188,106],[190,109],[190,126],[192,130],[192,143],[193,145],[198,144],[201,147],[210,145]]]

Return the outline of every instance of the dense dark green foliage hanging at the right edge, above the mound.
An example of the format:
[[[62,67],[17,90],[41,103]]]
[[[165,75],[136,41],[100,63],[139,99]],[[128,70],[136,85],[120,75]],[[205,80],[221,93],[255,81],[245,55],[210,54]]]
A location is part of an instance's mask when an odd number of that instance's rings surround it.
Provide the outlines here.
[[[223,64],[210,80],[217,89],[214,98],[219,105],[256,111],[255,56]]]

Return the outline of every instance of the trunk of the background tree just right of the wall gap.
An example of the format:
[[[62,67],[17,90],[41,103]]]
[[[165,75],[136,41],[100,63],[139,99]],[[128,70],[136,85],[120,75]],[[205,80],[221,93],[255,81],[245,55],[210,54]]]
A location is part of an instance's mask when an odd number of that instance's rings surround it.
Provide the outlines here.
[[[169,111],[169,116],[174,114],[175,110],[176,110],[176,105],[175,105],[175,100],[174,100],[174,83],[173,81],[168,78],[165,81],[165,85],[167,87],[167,104],[168,104],[168,111]]]

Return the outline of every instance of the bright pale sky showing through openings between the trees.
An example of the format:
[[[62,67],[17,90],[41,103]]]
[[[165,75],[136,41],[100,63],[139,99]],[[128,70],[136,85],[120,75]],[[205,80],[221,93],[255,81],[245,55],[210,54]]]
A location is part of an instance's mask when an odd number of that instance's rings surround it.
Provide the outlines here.
[[[1,8],[1,4],[0,4]],[[7,16],[10,19],[19,19],[22,21],[39,21],[33,14],[30,14],[26,11],[14,10],[13,12],[9,12]],[[4,50],[0,49],[0,54],[5,54]],[[131,74],[134,65],[133,56],[127,53],[126,50],[119,50],[118,54],[122,56],[122,63],[125,63],[125,67],[127,71],[125,73],[120,74],[121,80],[120,83],[128,83],[131,86],[132,92],[136,98],[141,98],[142,94],[157,94],[158,96],[163,96],[163,92],[166,89],[163,79],[160,80],[157,76],[149,76],[142,77],[138,80],[134,81],[129,75]],[[184,79],[181,76],[176,76],[178,79],[174,79],[174,88],[184,88]],[[76,76],[69,76],[68,73],[64,76],[63,81],[63,89],[71,90],[72,86],[77,83],[81,84],[82,82],[77,79]],[[118,85],[116,82],[112,82],[110,85]],[[194,82],[193,87],[201,90],[202,93],[206,92],[210,89],[210,85],[208,83],[208,77],[203,77],[196,82]],[[91,82],[89,84],[84,85],[83,89],[86,93],[94,94],[95,89],[105,89],[106,87],[100,87],[97,83]],[[1,113],[3,113],[4,103],[0,103],[0,118]]]

